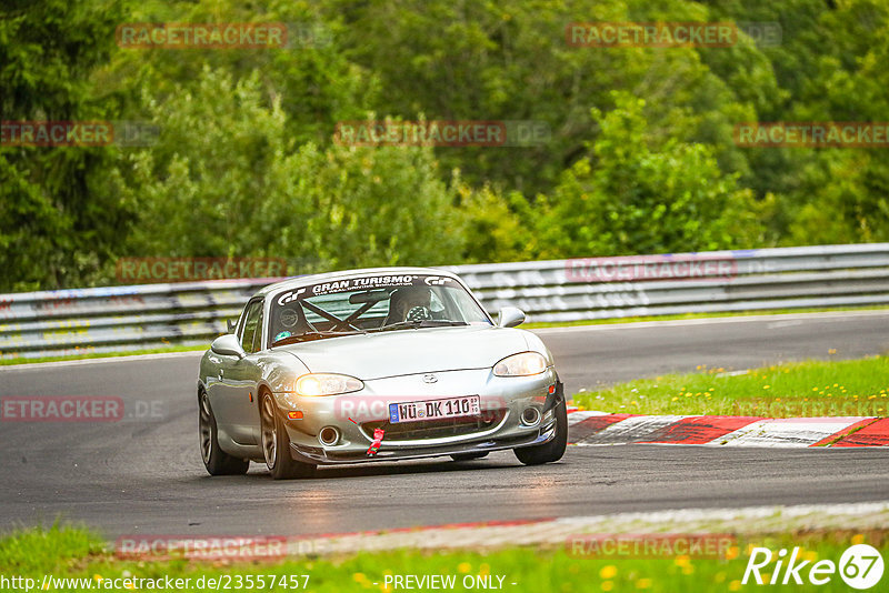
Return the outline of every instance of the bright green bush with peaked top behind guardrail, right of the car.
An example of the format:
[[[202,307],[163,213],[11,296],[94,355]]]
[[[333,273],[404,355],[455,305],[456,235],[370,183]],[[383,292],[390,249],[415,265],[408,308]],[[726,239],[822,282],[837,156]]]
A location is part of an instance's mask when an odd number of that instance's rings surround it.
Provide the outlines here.
[[[669,139],[652,145],[645,101],[616,96],[593,110],[600,133],[592,158],[565,172],[543,218],[542,255],[706,251],[757,240],[750,191],[726,175],[703,144]]]

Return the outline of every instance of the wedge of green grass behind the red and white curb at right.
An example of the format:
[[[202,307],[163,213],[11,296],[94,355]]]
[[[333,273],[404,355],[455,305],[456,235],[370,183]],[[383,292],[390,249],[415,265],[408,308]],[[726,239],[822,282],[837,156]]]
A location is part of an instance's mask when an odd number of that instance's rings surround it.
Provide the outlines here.
[[[889,415],[886,356],[786,363],[740,375],[728,375],[725,369],[699,370],[578,393],[573,402],[586,410],[633,414]]]

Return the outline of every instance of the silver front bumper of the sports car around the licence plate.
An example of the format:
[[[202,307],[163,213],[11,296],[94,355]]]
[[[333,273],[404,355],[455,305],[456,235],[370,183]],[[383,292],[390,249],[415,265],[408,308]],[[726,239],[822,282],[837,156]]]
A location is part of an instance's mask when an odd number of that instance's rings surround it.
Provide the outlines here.
[[[342,395],[276,394],[284,416],[290,411],[302,412],[301,420],[284,421],[293,459],[312,464],[400,461],[516,449],[553,439],[553,410],[563,396],[555,368],[522,378],[495,376],[490,369],[434,375],[437,381],[431,384],[423,382],[423,374],[366,381],[361,391]],[[461,421],[452,426],[448,422],[388,424],[390,402],[463,395],[479,395],[482,416],[475,425]],[[522,419],[528,409],[536,409],[539,420],[528,423]],[[372,428],[380,424],[384,431],[390,429],[391,438],[383,436],[379,451],[371,456]],[[407,430],[408,424],[411,430]],[[338,431],[336,444],[320,441],[324,428]],[[452,433],[443,434],[449,431]]]

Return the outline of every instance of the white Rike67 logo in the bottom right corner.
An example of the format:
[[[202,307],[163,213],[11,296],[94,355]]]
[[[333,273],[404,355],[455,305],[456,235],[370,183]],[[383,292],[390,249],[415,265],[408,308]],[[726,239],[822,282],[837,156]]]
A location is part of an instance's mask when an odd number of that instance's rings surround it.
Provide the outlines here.
[[[776,560],[775,566],[770,566]],[[760,571],[765,571],[765,575]],[[750,560],[747,562],[747,569],[743,571],[741,584],[746,585],[751,582],[751,584],[758,585],[801,585],[806,583],[823,585],[838,573],[840,579],[852,589],[871,589],[882,579],[882,556],[873,546],[856,544],[842,553],[839,564],[832,560],[819,560],[812,563],[811,560],[800,557],[799,547],[793,547],[789,555],[785,549],[775,554],[768,547],[753,547],[750,552]],[[771,579],[769,579],[769,574]]]

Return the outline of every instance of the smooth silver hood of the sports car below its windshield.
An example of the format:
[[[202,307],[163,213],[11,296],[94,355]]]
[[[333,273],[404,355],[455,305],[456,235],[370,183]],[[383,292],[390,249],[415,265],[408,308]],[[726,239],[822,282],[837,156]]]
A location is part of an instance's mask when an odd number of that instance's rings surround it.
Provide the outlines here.
[[[370,381],[491,368],[505,356],[529,350],[529,345],[521,330],[470,325],[344,335],[280,350],[300,359],[309,372],[342,373]]]

